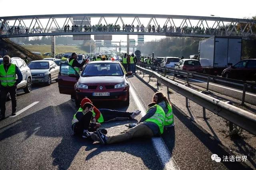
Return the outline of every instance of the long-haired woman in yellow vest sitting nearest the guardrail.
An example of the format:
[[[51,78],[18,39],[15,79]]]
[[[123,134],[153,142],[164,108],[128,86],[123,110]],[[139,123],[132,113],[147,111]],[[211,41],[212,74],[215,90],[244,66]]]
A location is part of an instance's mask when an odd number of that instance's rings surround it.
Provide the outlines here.
[[[173,119],[173,113],[172,113],[172,105],[169,103],[168,99],[162,92],[156,92],[153,97],[153,102],[156,102],[165,113],[165,119],[164,119],[164,127],[172,127],[174,126],[174,119]]]

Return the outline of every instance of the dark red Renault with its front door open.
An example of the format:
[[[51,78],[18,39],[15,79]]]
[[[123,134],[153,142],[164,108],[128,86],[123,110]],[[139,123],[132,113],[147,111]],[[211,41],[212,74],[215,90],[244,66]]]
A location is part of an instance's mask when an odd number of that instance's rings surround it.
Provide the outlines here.
[[[71,74],[72,73],[72,74]],[[92,101],[121,101],[129,105],[129,82],[119,61],[91,61],[81,75],[68,64],[60,65],[58,86],[61,94],[75,94],[76,106],[83,98]]]

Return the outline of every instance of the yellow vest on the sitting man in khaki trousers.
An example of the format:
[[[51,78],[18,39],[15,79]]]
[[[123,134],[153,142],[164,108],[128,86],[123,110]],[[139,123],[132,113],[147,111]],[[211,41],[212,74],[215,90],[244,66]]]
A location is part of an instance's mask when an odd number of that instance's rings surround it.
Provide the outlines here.
[[[158,104],[155,104],[152,107],[156,107],[156,113],[154,113],[154,115],[152,115],[150,118],[146,119],[145,121],[156,123],[159,127],[160,133],[162,134],[164,132],[164,118],[165,118],[164,110]]]

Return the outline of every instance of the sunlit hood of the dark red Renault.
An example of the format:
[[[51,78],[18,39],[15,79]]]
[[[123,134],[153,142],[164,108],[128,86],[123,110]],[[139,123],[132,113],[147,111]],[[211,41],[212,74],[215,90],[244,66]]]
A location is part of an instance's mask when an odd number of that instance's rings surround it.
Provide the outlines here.
[[[79,83],[88,84],[88,83],[122,83],[125,82],[125,76],[93,76],[93,77],[80,77],[78,80]]]

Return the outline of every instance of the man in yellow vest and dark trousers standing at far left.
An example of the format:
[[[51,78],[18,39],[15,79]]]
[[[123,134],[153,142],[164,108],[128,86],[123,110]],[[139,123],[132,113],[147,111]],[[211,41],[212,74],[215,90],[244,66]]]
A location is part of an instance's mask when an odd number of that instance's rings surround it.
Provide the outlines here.
[[[17,84],[22,81],[22,73],[19,68],[15,64],[10,63],[10,57],[5,55],[3,58],[4,64],[0,65],[0,119],[5,118],[5,103],[7,94],[10,93],[12,99],[12,115],[16,115],[16,106],[17,106],[17,98],[16,98],[16,90]],[[16,74],[18,75],[18,79],[16,80]]]

